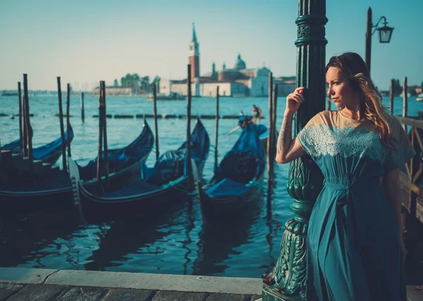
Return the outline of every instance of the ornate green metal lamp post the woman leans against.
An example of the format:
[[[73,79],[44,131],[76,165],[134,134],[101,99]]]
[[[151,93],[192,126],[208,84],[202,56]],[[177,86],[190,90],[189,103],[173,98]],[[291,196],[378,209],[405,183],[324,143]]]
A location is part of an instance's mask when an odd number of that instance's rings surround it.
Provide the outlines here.
[[[295,113],[293,134],[325,109],[325,25],[326,0],[299,0],[297,46],[297,87],[305,87],[302,103]],[[295,217],[285,224],[281,253],[274,270],[263,276],[263,301],[302,300],[305,297],[306,236],[314,201],[321,191],[323,175],[308,156],[291,162],[287,191],[294,199],[290,210]]]

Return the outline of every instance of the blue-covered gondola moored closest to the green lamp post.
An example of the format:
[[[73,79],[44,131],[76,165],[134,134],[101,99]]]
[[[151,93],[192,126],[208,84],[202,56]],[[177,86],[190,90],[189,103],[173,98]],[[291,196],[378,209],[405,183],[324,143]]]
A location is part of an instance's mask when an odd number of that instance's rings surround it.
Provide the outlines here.
[[[221,160],[214,177],[199,186],[200,203],[206,219],[233,217],[262,192],[266,155],[259,134],[252,124],[245,124],[238,141]]]

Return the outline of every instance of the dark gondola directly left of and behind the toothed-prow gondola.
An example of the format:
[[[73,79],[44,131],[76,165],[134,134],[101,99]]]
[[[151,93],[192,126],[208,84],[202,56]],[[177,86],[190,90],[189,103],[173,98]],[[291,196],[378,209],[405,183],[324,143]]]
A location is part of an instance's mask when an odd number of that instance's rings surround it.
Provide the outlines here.
[[[132,143],[110,150],[108,158],[111,186],[119,187],[139,179],[140,168],[147,160],[153,145],[152,130],[145,122],[141,134]],[[104,164],[102,166],[104,167]],[[97,185],[97,158],[78,169],[83,175],[84,186]],[[104,175],[105,168],[101,172]],[[20,175],[11,179],[9,186],[0,188],[0,214],[73,207],[73,186],[66,172],[57,170],[47,176],[34,178],[23,179]]]

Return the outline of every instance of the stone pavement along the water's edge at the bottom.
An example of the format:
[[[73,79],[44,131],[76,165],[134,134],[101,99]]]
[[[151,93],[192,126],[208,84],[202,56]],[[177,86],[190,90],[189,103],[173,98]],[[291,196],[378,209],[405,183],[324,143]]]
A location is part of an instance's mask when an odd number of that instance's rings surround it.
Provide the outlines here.
[[[255,278],[0,268],[0,301],[258,301]],[[407,286],[423,301],[423,286]]]

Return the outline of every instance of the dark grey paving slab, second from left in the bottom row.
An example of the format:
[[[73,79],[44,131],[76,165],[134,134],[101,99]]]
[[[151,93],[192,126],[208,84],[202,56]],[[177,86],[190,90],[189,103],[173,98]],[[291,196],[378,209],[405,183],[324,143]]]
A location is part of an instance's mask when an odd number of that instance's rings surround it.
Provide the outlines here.
[[[59,295],[61,291],[65,290],[66,286],[48,286],[48,285],[37,285],[28,284],[18,293],[8,298],[7,301],[46,301],[51,300],[56,295]]]

